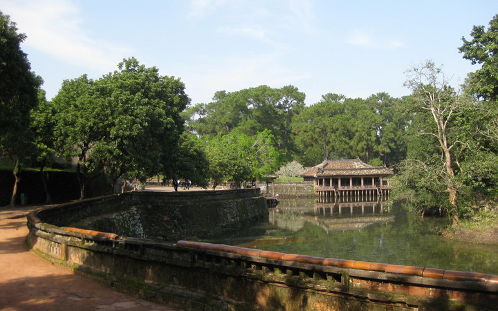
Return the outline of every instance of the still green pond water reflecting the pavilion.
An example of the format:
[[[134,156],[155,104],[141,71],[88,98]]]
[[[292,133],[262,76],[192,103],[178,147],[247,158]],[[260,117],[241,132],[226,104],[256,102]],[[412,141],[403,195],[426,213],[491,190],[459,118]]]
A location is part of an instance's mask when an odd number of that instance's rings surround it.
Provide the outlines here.
[[[288,254],[498,274],[498,245],[448,241],[437,234],[448,225],[441,218],[422,218],[385,202],[356,201],[282,198],[270,209],[268,221],[206,241]]]

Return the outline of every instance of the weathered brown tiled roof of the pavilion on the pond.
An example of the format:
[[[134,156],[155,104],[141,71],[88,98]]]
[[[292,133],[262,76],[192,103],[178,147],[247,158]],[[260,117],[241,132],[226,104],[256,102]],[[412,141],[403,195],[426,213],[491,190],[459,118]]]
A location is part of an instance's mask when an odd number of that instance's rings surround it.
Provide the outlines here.
[[[394,175],[391,169],[387,167],[374,167],[370,164],[362,162],[359,159],[348,160],[324,160],[324,162],[308,169],[301,176],[373,176]]]

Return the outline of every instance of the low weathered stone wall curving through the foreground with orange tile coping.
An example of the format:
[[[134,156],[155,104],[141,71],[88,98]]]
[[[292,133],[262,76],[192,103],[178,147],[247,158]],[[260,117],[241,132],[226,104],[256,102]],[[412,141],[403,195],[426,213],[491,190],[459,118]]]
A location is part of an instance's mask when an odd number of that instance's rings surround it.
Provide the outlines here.
[[[216,202],[217,195],[205,200]],[[223,195],[228,193],[218,198]],[[144,202],[146,196],[120,198]],[[495,308],[498,301],[498,276],[492,274],[173,244],[61,225],[95,206],[104,208],[107,200],[33,212],[28,245],[131,294],[190,309],[480,310]]]

